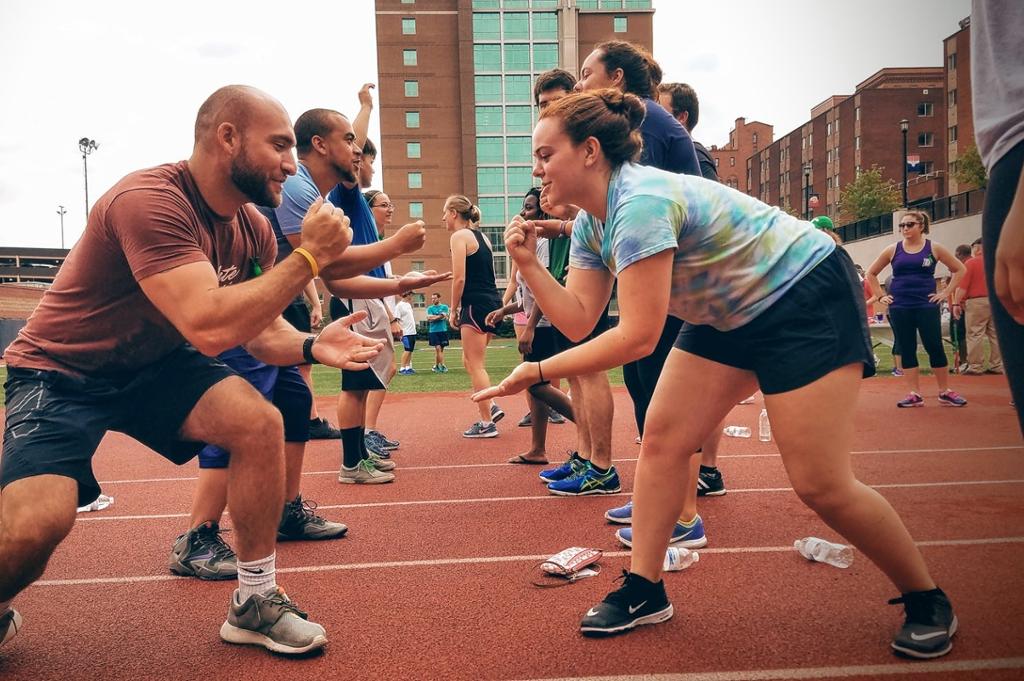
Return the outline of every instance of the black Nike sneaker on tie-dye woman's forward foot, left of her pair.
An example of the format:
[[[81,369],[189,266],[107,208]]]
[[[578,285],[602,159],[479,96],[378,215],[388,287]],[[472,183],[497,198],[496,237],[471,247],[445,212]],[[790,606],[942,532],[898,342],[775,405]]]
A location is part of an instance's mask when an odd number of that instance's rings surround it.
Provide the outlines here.
[[[623,586],[590,608],[580,623],[584,636],[621,634],[640,625],[656,625],[672,618],[665,583],[654,584],[623,570]]]

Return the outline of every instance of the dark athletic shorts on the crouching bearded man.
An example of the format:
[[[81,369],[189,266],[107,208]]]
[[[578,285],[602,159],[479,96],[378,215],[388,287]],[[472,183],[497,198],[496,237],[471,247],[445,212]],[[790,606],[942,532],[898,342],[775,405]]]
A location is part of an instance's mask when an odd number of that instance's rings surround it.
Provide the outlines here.
[[[61,475],[78,482],[79,506],[92,503],[99,496],[92,455],[109,430],[186,463],[203,442],[182,440],[181,425],[207,390],[236,375],[190,345],[121,381],[9,367],[0,487]]]

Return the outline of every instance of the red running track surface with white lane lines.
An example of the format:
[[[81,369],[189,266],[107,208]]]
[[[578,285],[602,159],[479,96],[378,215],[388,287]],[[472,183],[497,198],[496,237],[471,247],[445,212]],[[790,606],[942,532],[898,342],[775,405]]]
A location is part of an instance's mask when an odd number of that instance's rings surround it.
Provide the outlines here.
[[[281,545],[279,581],[327,627],[326,652],[288,659],[219,640],[232,583],[166,568],[195,464],[174,467],[112,435],[95,469],[116,503],[80,515],[43,580],[17,598],[25,627],[0,649],[0,678],[1024,678],[1024,442],[1009,391],[1001,377],[961,379],[967,409],[933,398],[904,411],[894,406],[901,387],[865,382],[854,465],[903,516],[954,602],[961,632],[939,661],[890,653],[901,610],[886,605],[896,594],[863,556],[839,570],[794,553],[801,537],[836,537],[790,490],[774,443],[756,439],[723,441],[729,493],[699,504],[709,547],[666,578],[676,616],[583,638],[580,618],[628,565],[602,518],[628,495],[555,498],[537,467],[504,464],[527,443],[514,427],[520,397],[504,402],[501,437],[471,441],[459,436],[475,414],[465,395],[407,393],[388,397],[382,421],[402,440],[393,484],[338,484],[336,441],[307,453],[304,495],[350,530]],[[629,491],[639,448],[629,398],[615,399],[614,458]],[[321,407],[333,412],[329,399]],[[756,431],[760,409],[736,407],[729,422]],[[552,426],[549,441],[561,458],[571,426]],[[573,545],[606,551],[599,577],[529,585],[540,558]]]

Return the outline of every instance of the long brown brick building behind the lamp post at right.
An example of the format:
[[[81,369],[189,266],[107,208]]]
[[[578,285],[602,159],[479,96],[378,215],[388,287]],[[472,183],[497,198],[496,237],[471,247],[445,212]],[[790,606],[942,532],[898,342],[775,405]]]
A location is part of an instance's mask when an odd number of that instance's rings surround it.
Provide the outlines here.
[[[944,196],[946,96],[943,67],[882,69],[852,95],[834,95],[811,110],[811,119],[752,156],[752,196],[798,214],[840,218],[840,190],[861,169],[879,166],[902,182],[900,120],[909,122],[910,202]],[[809,198],[817,199],[817,207]]]

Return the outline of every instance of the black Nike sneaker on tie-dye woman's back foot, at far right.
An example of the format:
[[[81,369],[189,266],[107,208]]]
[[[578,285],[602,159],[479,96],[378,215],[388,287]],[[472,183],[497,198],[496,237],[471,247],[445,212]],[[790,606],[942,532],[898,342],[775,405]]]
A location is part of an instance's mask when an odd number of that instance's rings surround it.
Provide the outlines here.
[[[906,611],[903,628],[893,639],[893,650],[922,659],[941,657],[952,650],[956,615],[941,589],[911,591],[893,598],[889,604],[902,604]]]

